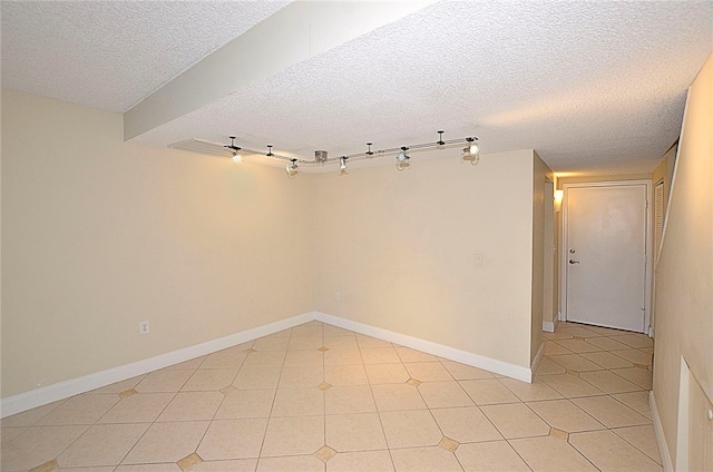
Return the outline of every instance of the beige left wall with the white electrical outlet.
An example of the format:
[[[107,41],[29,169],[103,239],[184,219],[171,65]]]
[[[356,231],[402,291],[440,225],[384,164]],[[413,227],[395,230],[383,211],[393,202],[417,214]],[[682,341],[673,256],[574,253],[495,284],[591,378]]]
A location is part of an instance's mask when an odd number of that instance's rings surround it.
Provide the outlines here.
[[[2,397],[313,309],[313,179],[2,90]]]

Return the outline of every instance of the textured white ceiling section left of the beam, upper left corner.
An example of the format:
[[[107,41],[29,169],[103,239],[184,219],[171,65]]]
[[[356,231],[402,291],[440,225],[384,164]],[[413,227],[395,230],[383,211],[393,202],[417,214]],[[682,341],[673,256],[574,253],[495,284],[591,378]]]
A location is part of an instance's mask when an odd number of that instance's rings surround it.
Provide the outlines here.
[[[124,112],[287,3],[2,0],[2,87]]]

